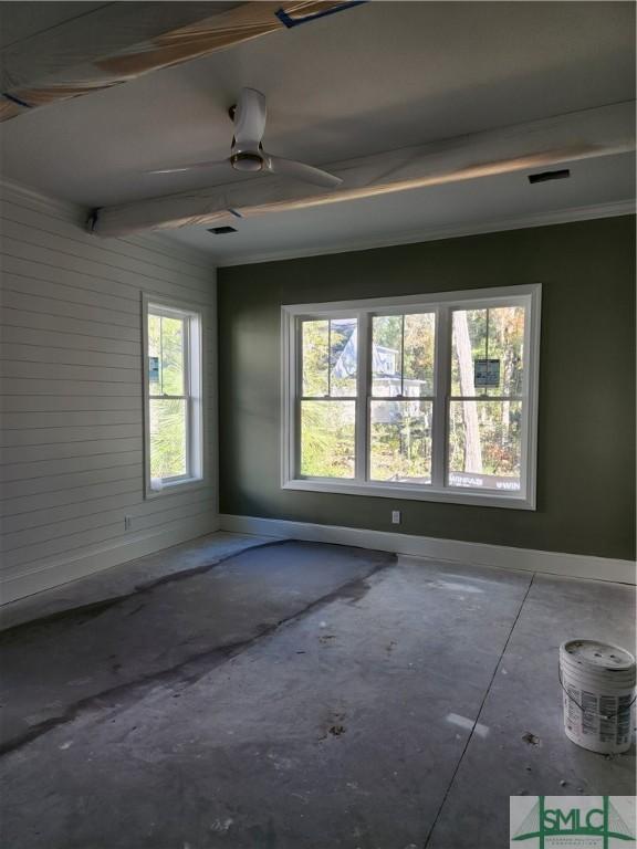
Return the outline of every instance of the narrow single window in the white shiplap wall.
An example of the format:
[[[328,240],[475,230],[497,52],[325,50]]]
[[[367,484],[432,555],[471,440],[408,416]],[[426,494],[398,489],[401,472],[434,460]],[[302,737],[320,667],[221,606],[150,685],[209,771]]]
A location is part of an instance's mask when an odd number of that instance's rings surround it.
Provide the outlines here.
[[[201,481],[201,314],[144,297],[146,494]]]

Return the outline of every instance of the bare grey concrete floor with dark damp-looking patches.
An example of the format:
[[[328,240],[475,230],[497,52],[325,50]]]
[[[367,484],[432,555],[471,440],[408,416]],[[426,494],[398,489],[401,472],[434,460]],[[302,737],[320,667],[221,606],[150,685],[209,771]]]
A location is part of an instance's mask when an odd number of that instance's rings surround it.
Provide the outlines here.
[[[630,588],[216,534],[6,608],[11,849],[500,849],[509,796],[635,794],[557,647]],[[535,744],[525,736],[534,735]]]

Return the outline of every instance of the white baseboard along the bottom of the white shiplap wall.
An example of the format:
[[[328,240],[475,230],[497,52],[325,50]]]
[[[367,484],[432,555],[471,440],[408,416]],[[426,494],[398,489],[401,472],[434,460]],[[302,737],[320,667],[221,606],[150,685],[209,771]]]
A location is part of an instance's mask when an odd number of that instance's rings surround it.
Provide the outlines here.
[[[52,559],[43,568],[1,579],[0,598],[6,605],[218,530],[217,516],[197,516],[184,521],[178,527],[154,528],[125,539],[117,539],[109,545],[83,548],[76,557],[66,557],[64,560]]]

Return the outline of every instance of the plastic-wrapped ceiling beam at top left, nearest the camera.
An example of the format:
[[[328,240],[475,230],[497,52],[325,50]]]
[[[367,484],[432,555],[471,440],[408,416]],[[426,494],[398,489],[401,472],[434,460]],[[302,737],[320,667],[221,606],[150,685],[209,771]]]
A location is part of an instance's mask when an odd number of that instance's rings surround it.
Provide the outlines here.
[[[9,15],[11,3],[4,6]],[[343,0],[109,2],[0,51],[0,120],[352,6]]]

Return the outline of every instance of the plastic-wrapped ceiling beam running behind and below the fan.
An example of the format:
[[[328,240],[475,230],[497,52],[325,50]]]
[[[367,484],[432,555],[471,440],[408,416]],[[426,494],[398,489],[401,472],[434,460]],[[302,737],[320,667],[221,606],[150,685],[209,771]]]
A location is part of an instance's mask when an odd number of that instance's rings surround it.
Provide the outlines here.
[[[395,191],[440,186],[635,149],[633,101],[526,124],[408,147],[322,167],[343,178],[331,190],[283,177],[212,186],[96,210],[93,232],[130,232],[237,221],[272,211],[301,209]]]

